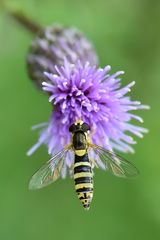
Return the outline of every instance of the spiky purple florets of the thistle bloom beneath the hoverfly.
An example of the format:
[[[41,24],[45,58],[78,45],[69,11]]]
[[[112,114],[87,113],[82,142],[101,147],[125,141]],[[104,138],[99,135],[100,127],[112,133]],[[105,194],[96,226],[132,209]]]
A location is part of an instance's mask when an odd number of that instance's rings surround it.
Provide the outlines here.
[[[130,111],[149,108],[126,96],[135,82],[120,88],[123,71],[110,75],[110,66],[97,68],[89,62],[71,64],[65,59],[63,66],[55,66],[55,70],[54,74],[44,72],[47,82],[42,83],[54,111],[48,123],[35,127],[42,130],[28,155],[41,144],[47,145],[49,154],[55,154],[70,142],[69,126],[80,118],[94,131],[93,143],[108,150],[133,152],[131,145],[136,142],[130,134],[142,138],[147,130],[130,123],[132,119],[143,122]]]

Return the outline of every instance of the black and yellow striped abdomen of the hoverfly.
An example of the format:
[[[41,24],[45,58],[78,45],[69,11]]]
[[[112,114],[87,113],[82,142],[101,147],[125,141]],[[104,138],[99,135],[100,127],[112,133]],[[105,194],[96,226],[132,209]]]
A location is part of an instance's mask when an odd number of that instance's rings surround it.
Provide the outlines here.
[[[93,198],[93,172],[87,153],[75,155],[74,181],[79,200],[85,209],[89,209]]]

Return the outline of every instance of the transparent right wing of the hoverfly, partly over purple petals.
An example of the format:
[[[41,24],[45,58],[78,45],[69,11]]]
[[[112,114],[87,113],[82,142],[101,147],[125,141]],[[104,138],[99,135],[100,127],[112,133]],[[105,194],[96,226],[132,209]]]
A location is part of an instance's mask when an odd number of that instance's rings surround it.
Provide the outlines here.
[[[97,155],[97,159],[95,160],[97,165],[100,167],[103,165],[104,167],[102,168],[110,171],[115,176],[125,178],[138,175],[139,172],[137,168],[132,163],[117,155],[116,153],[108,151],[107,149],[94,144],[91,144],[90,147]]]

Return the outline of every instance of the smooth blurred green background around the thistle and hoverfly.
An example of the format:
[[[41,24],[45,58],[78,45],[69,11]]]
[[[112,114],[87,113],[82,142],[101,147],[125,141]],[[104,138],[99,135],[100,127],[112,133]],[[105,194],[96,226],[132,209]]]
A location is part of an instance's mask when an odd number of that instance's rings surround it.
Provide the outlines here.
[[[31,35],[1,9],[0,16],[0,239],[160,239],[160,1],[22,0],[9,4],[50,25],[76,26],[94,43],[101,66],[125,70],[123,84],[136,80],[132,98],[149,104],[140,111],[149,134],[137,139],[135,180],[97,170],[95,195],[83,210],[71,179],[29,191],[31,175],[48,159],[45,147],[30,158],[37,140],[30,127],[49,118],[47,96],[26,74]]]

